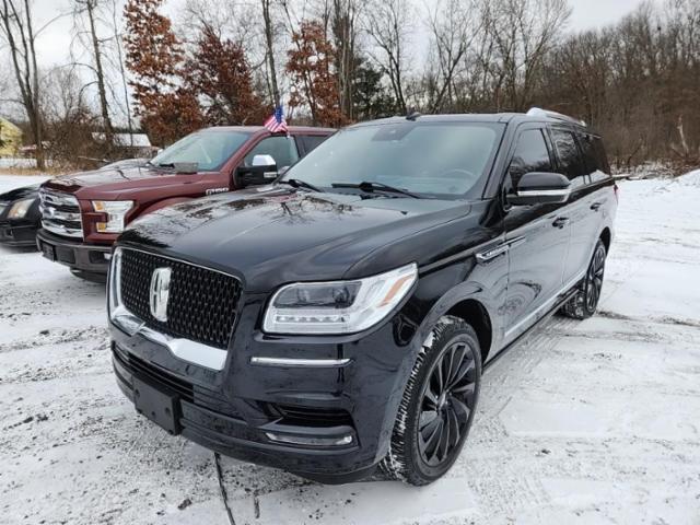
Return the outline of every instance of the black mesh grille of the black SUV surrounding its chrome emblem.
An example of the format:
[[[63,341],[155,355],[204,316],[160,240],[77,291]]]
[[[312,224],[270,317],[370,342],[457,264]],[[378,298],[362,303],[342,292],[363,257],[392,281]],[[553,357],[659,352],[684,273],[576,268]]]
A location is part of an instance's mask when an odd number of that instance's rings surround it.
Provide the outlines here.
[[[150,288],[156,268],[171,268],[167,320],[153,317]],[[236,320],[241,281],[214,270],[143,252],[124,249],[121,302],[147,326],[171,337],[226,349]]]

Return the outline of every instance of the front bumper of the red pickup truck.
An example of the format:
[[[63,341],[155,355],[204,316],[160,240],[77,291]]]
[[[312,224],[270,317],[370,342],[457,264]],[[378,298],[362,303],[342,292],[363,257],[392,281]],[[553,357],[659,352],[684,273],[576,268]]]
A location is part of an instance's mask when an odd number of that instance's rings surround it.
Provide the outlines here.
[[[109,270],[112,246],[84,244],[39,230],[36,245],[44,257],[85,273],[106,276]]]

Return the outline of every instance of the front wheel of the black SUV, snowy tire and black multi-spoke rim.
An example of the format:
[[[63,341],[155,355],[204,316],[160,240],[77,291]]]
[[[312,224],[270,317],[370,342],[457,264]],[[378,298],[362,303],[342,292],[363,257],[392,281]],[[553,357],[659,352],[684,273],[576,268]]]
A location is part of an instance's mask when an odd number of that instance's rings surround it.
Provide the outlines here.
[[[457,317],[442,317],[406,385],[389,453],[381,463],[385,476],[423,486],[450,470],[469,433],[480,382],[476,331]]]

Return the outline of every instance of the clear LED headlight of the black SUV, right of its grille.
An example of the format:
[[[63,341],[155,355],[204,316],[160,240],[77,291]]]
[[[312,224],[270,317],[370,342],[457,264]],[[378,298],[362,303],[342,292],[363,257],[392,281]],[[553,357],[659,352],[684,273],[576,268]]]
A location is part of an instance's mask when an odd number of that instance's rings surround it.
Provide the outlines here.
[[[270,301],[262,328],[272,334],[353,334],[384,319],[418,278],[416,264],[378,276],[336,282],[298,282]]]

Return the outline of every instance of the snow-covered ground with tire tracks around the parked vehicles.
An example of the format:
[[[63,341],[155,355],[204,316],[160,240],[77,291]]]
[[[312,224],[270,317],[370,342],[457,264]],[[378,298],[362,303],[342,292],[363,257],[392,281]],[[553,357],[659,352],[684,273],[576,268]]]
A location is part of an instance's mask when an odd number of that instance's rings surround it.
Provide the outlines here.
[[[222,458],[235,523],[699,524],[700,172],[620,186],[600,314],[487,372],[445,479],[325,487]],[[0,248],[0,523],[228,524],[213,455],[117,389],[103,303]]]

